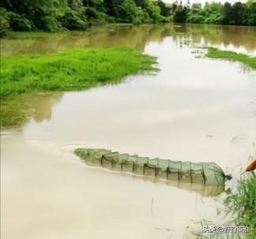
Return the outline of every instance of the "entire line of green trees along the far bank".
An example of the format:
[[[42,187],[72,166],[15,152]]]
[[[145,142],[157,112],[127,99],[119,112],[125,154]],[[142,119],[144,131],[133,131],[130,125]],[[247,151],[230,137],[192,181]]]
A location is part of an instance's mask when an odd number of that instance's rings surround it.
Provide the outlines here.
[[[193,23],[256,25],[256,1],[194,3],[162,0],[2,0],[0,36],[13,31],[84,30],[102,23]]]

